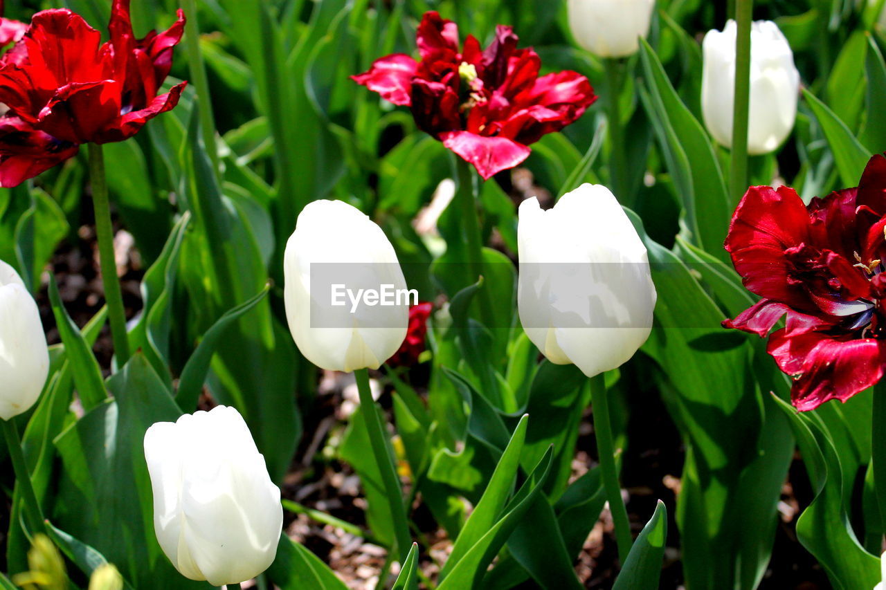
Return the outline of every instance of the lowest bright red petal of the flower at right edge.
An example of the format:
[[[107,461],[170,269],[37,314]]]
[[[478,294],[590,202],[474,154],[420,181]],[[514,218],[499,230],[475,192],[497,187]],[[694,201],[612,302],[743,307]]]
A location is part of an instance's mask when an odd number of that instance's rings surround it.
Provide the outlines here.
[[[886,360],[882,340],[824,337],[814,345],[811,336],[804,340],[797,350],[804,352],[802,374],[791,387],[798,410],[815,409],[828,400],[846,401],[880,381]]]

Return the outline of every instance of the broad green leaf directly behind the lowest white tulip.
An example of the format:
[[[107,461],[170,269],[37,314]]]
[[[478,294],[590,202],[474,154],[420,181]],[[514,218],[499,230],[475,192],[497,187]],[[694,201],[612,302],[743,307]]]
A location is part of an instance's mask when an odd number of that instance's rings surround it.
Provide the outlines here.
[[[108,389],[113,400],[92,408],[55,441],[62,469],[48,516],[105,555],[136,588],[210,587],[175,571],[154,534],[144,433],[182,411],[142,353],[108,380]]]

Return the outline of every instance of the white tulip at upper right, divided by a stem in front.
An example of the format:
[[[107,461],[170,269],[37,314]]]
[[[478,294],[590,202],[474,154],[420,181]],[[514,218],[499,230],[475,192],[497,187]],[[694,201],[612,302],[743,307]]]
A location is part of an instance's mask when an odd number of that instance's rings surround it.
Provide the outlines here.
[[[702,44],[702,113],[704,124],[721,145],[732,147],[735,94],[734,20],[723,32],[712,30]],[[788,40],[771,20],[758,20],[750,31],[750,112],[748,153],[775,151],[797,119],[800,73]]]

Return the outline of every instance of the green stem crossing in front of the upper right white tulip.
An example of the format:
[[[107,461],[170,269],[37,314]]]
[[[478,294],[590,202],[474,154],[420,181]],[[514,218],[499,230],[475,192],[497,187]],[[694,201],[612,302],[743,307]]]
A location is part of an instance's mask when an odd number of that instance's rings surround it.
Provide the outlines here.
[[[748,119],[750,117],[750,25],[753,0],[736,0],[735,101],[732,127],[730,192],[737,203],[748,189]]]

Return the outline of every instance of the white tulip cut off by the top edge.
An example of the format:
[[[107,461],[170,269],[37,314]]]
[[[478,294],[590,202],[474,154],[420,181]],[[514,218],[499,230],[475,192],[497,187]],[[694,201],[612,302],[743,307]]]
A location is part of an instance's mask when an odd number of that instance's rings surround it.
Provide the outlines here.
[[[569,27],[576,43],[601,58],[624,58],[640,50],[649,33],[655,0],[569,0]]]

